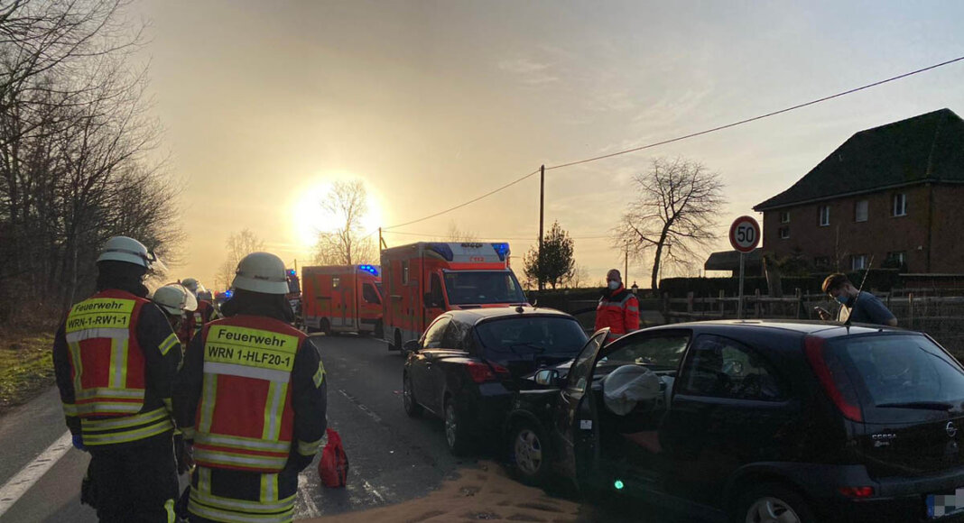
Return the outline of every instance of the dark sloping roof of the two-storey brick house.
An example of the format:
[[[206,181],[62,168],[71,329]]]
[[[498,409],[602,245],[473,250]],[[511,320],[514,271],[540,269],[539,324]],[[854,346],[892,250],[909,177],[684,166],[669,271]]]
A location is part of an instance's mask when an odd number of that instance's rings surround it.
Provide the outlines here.
[[[761,212],[924,182],[964,183],[964,120],[950,109],[860,131]]]

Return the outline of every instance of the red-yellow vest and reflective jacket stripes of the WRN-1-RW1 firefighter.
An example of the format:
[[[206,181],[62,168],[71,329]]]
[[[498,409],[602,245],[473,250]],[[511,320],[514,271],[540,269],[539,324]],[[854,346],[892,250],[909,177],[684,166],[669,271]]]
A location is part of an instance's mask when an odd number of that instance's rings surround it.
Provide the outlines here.
[[[159,403],[143,411],[146,365],[137,332],[147,302],[106,290],[75,304],[67,314],[64,333],[73,398],[64,403],[64,412],[80,418],[87,446],[127,443],[174,429],[169,411]],[[164,355],[177,343],[172,332],[158,349]]]

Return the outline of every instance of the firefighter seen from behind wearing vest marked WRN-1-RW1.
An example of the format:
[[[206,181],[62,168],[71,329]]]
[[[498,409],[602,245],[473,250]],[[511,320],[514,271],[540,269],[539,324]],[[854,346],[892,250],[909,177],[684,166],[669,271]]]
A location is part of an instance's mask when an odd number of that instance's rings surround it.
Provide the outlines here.
[[[171,386],[180,344],[147,300],[155,261],[125,236],[97,257],[96,294],[73,305],[54,338],[53,361],[73,445],[91,454],[88,484],[101,521],[174,520]]]

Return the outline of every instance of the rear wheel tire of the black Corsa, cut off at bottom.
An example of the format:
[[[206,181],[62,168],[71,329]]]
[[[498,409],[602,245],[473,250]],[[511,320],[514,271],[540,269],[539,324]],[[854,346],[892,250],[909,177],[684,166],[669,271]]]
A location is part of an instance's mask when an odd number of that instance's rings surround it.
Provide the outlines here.
[[[783,484],[764,483],[750,487],[739,498],[731,521],[734,523],[816,523],[817,517],[803,496]]]

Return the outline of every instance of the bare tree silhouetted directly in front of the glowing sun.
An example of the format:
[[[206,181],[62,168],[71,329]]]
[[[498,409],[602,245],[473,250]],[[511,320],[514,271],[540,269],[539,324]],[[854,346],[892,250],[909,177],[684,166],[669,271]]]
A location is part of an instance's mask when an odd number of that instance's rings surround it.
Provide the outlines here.
[[[375,263],[375,244],[370,235],[365,236],[362,230],[362,220],[368,213],[367,196],[361,180],[335,182],[331,193],[318,202],[322,209],[334,217],[338,225],[332,232],[318,233],[315,263]]]

